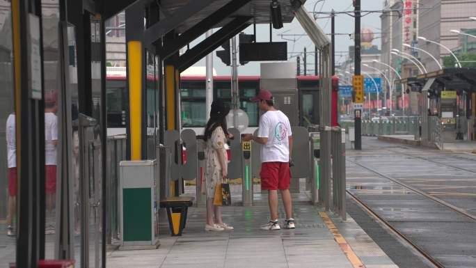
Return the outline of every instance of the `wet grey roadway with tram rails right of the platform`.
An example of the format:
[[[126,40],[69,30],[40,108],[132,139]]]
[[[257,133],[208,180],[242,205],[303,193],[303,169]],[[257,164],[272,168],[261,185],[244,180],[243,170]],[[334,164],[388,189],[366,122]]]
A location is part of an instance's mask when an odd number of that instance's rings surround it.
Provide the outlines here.
[[[476,156],[364,138],[347,186],[444,267],[476,267]]]

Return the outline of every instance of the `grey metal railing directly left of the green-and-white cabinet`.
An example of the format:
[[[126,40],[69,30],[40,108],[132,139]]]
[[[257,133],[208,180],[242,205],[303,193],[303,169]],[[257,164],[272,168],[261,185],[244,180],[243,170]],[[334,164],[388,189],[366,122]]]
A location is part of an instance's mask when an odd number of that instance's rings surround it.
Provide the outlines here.
[[[119,163],[126,157],[126,137],[107,137],[107,204],[106,204],[106,244],[113,244],[119,239],[120,207],[119,207]]]

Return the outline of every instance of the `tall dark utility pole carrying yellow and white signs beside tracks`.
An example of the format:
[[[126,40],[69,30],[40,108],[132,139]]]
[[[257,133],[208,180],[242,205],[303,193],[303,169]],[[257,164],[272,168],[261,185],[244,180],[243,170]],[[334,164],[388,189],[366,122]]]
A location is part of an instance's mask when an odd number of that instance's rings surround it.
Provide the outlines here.
[[[356,19],[355,29],[355,60],[354,60],[354,76],[360,76],[360,0],[354,0],[354,13]],[[354,124],[355,124],[355,148],[356,150],[362,150],[362,120],[360,118],[362,111],[354,110]]]

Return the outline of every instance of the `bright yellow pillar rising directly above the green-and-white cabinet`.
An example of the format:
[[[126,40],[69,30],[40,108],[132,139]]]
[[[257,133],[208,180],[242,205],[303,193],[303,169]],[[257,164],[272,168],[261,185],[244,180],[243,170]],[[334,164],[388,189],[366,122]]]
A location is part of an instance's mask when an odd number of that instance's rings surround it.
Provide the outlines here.
[[[131,160],[141,160],[142,145],[142,43],[127,42],[129,68],[129,118],[131,133]]]

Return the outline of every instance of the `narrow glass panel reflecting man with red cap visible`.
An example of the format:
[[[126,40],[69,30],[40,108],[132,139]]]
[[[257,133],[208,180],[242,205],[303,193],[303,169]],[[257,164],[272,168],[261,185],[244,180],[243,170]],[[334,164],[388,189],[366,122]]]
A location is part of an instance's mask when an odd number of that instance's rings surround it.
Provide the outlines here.
[[[43,68],[45,68],[45,184],[46,184],[46,223],[45,258],[54,258],[56,232],[56,188],[58,153],[58,22],[59,1],[43,0]]]

